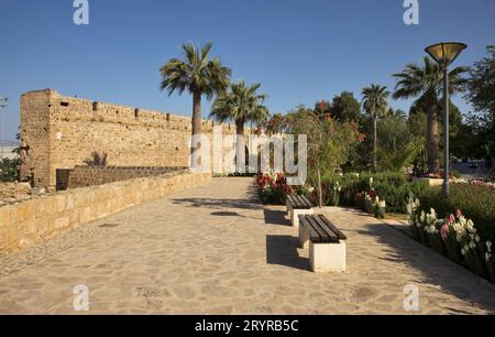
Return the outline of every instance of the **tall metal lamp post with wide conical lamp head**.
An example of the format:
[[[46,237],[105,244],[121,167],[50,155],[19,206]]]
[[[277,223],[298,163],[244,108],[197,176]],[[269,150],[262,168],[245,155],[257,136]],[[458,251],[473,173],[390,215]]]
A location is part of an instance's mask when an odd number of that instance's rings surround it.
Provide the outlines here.
[[[449,65],[468,45],[459,42],[442,42],[430,45],[425,51],[443,69],[443,194],[450,194],[450,150],[449,150]]]

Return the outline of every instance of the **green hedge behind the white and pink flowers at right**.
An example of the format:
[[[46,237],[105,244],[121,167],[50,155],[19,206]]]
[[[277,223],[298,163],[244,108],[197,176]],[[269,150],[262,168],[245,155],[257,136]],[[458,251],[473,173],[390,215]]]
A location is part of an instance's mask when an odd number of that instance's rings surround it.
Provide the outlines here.
[[[430,187],[419,194],[421,209],[435,208],[439,217],[455,214],[459,209],[474,221],[484,240],[495,238],[495,192],[483,186],[453,184],[449,197],[441,187]]]

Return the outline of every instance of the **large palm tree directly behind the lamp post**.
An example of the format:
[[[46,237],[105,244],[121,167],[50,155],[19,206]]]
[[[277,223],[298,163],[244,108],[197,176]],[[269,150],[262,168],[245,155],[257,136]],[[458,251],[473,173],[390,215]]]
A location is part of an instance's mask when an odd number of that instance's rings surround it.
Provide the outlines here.
[[[468,72],[466,67],[457,67],[450,72],[449,87],[451,94],[463,91],[465,79],[461,75],[465,72]],[[439,172],[438,107],[441,101],[439,97],[442,95],[443,88],[442,68],[433,59],[426,56],[422,59],[422,65],[408,64],[402,73],[393,76],[397,80],[393,95],[394,99],[415,97],[417,98],[416,104],[422,101],[426,107],[428,171],[430,173]]]

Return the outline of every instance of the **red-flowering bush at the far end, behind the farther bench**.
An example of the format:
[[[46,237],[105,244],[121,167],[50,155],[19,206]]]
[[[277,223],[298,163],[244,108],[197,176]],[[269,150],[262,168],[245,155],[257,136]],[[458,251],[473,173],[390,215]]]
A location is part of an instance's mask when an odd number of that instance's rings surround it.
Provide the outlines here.
[[[285,196],[294,193],[282,173],[257,175],[256,185],[263,204],[285,204]]]

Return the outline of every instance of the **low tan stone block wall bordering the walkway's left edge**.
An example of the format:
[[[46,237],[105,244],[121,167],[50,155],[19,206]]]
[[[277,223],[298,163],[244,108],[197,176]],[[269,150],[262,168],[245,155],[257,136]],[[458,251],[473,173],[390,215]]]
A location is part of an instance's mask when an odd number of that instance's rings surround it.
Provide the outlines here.
[[[173,173],[76,188],[0,207],[0,254],[32,247],[168,194],[206,184],[211,174]]]

